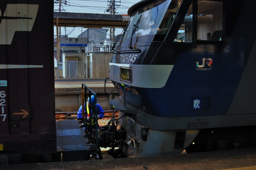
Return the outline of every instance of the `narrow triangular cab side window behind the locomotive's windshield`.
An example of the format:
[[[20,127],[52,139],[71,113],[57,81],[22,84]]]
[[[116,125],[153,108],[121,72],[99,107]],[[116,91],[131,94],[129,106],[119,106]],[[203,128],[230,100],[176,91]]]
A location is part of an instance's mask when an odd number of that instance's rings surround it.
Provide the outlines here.
[[[187,14],[178,30],[178,33],[174,39],[174,42],[186,42],[192,43],[192,24],[193,24],[193,1],[187,10]]]

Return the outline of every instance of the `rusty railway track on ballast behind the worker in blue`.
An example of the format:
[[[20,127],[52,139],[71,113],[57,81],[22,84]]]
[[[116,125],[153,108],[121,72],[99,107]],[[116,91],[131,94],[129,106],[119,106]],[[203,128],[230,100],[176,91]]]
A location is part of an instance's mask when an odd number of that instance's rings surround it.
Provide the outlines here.
[[[105,115],[103,119],[110,119],[113,115],[113,110],[104,110]],[[76,119],[77,112],[55,112],[55,120],[65,120],[65,119]],[[119,112],[114,114],[114,117],[118,117]]]

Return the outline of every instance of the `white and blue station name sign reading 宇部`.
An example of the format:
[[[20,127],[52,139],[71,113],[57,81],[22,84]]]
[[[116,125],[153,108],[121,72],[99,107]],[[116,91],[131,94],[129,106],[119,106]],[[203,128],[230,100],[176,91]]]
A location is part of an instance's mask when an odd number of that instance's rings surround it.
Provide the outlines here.
[[[87,47],[87,38],[61,37],[61,46]]]

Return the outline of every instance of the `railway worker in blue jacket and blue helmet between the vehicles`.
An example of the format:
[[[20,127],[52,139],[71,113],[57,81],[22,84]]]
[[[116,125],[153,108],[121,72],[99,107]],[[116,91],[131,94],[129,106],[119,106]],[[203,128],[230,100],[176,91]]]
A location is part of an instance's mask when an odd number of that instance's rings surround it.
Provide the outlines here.
[[[85,112],[85,116],[87,115],[87,124],[88,125],[90,125],[90,117],[88,116],[90,111],[91,111],[91,115],[93,116],[94,95],[91,95],[91,105],[92,106],[90,106],[90,104],[89,104],[89,97],[88,97],[88,101],[86,102],[86,107],[85,107],[85,103],[84,103],[84,107],[86,108],[84,110],[84,112]],[[104,118],[104,111],[103,111],[101,105],[96,103],[96,106],[97,106],[98,119]],[[77,112],[77,118],[82,118],[82,105],[80,106],[80,108]],[[91,125],[93,125],[93,124],[91,124]],[[98,123],[97,123],[97,126],[98,126],[98,129],[99,129],[99,124]],[[90,131],[90,126],[88,126],[87,131]]]

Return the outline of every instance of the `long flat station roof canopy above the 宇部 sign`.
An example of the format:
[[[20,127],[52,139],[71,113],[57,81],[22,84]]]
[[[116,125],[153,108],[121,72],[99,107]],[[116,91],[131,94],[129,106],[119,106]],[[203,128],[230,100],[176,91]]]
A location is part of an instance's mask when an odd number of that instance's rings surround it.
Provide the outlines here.
[[[56,25],[56,18],[59,18],[59,27],[125,28],[128,24],[128,21],[123,19],[124,17],[122,15],[113,14],[54,12],[54,25]]]

